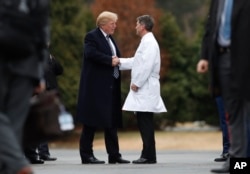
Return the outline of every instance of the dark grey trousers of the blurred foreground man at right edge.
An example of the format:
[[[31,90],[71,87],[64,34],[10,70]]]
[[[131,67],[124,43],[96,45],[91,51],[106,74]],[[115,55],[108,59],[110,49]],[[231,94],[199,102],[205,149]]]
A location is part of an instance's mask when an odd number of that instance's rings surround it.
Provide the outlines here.
[[[219,77],[223,102],[226,111],[229,113],[229,132],[231,136],[229,154],[231,157],[247,157],[250,103],[233,98],[231,95],[230,67],[230,53],[221,54],[219,56]]]

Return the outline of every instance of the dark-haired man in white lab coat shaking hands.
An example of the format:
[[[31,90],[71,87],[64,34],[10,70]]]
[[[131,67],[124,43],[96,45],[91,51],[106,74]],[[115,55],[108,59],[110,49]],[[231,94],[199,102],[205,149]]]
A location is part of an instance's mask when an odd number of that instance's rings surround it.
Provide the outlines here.
[[[154,20],[149,15],[137,18],[136,33],[141,43],[132,58],[120,58],[120,70],[131,69],[131,86],[123,110],[136,113],[143,149],[134,164],[156,163],[154,113],[166,112],[160,96],[160,49],[152,33]]]

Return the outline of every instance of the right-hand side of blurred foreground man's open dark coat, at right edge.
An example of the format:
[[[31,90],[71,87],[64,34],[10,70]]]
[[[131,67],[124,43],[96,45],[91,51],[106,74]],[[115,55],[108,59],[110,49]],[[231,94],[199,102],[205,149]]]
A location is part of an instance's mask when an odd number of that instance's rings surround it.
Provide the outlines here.
[[[250,101],[250,1],[234,0],[232,14],[232,94]]]

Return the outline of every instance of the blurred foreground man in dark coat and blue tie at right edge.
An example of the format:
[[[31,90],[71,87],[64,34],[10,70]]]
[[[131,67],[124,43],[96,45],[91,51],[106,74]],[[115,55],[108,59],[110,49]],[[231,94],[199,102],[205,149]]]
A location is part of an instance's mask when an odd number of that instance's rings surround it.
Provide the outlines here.
[[[250,1],[234,0],[231,2],[232,13],[229,20],[231,32],[228,37],[229,45],[227,45],[225,43],[228,42],[220,42],[218,39],[220,32],[217,30],[220,24],[217,25],[217,29],[213,25],[220,20],[218,16],[220,8],[225,8],[224,2],[228,4],[229,1],[231,0],[212,1],[210,18],[213,16],[213,20],[208,20],[203,43],[207,44],[205,52],[210,54],[207,61],[211,71],[213,74],[218,73],[218,86],[229,113],[231,135],[229,156],[230,158],[246,158],[249,156],[250,125]],[[220,45],[221,43],[225,45]],[[215,54],[217,56],[214,56]],[[201,63],[202,61],[204,60],[201,60],[197,67],[200,72],[204,72],[208,67],[208,62]],[[212,76],[213,81],[215,78],[216,76]],[[213,169],[212,172],[229,172],[230,158],[222,168]]]

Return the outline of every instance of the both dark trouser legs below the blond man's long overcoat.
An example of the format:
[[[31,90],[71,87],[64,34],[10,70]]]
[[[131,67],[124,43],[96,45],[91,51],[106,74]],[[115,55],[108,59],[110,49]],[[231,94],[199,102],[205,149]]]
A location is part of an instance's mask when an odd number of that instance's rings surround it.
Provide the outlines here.
[[[97,129],[95,127],[84,125],[80,138],[81,159],[94,156],[93,141],[96,130]],[[119,153],[117,128],[105,128],[104,139],[109,158],[121,157],[121,154]]]

